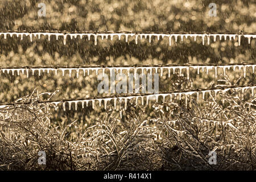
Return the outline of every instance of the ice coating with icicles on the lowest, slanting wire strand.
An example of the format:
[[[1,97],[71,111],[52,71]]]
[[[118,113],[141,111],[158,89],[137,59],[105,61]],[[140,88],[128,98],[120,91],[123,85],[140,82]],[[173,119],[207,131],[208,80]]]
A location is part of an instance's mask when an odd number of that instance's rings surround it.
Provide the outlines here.
[[[242,87],[234,87],[234,88],[225,88],[225,89],[209,89],[209,90],[193,90],[193,91],[187,91],[187,92],[173,92],[173,93],[159,93],[159,94],[148,94],[148,95],[136,95],[136,96],[122,96],[122,97],[109,97],[109,98],[92,98],[92,99],[85,99],[85,100],[73,100],[73,101],[52,101],[52,104],[54,104],[56,107],[55,109],[59,108],[59,105],[63,105],[63,110],[65,111],[65,106],[68,105],[69,110],[71,110],[72,104],[75,105],[75,110],[77,110],[77,105],[80,103],[82,105],[82,109],[84,109],[84,105],[86,104],[86,107],[88,107],[88,104],[92,104],[92,108],[95,108],[96,101],[99,103],[99,106],[101,106],[102,101],[104,102],[104,108],[106,110],[108,104],[110,102],[114,102],[114,109],[117,108],[117,100],[119,100],[119,105],[121,103],[124,104],[125,110],[127,109],[127,103],[130,100],[135,100],[135,104],[138,105],[138,100],[141,100],[141,104],[144,105],[144,100],[146,100],[146,105],[148,105],[149,100],[155,100],[158,102],[159,97],[162,97],[162,102],[166,101],[167,98],[169,98],[170,101],[173,101],[175,98],[177,100],[181,100],[182,96],[185,98],[185,105],[188,104],[188,98],[196,95],[197,101],[199,101],[199,95],[201,93],[203,100],[205,99],[205,95],[209,94],[212,96],[212,92],[214,93],[214,98],[217,97],[218,93],[224,94],[225,92],[228,92],[229,90],[236,90],[236,92],[241,91],[242,94],[245,94],[245,92],[250,92],[251,96],[254,96],[254,90],[256,89],[256,86],[242,86]],[[124,101],[124,102],[122,102]]]

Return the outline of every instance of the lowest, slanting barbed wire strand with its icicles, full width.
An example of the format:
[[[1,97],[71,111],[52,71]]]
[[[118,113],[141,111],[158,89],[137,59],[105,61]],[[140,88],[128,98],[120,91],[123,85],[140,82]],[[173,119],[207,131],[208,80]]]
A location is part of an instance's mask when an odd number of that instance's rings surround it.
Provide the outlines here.
[[[63,105],[63,110],[65,111],[65,104],[68,103],[69,110],[71,110],[72,103],[75,104],[75,110],[77,110],[77,104],[81,103],[82,109],[84,109],[84,105],[86,104],[86,107],[88,106],[89,102],[92,103],[92,108],[95,107],[95,102],[98,101],[99,106],[101,107],[102,101],[104,101],[104,108],[106,110],[106,106],[108,102],[114,101],[114,109],[117,107],[117,101],[119,100],[119,104],[122,103],[122,101],[125,101],[125,110],[127,109],[127,101],[133,100],[135,98],[135,104],[138,105],[138,99],[141,98],[141,104],[144,105],[144,99],[146,98],[146,105],[148,105],[149,100],[155,100],[158,102],[159,97],[163,98],[163,102],[166,100],[166,97],[169,98],[170,101],[172,101],[172,98],[178,97],[179,100],[181,100],[181,97],[185,97],[185,105],[187,106],[187,100],[188,97],[192,96],[193,94],[196,94],[197,101],[199,101],[199,94],[202,94],[202,98],[204,100],[205,94],[208,93],[210,97],[217,98],[217,94],[219,92],[225,93],[229,90],[236,90],[238,92],[241,90],[242,94],[245,94],[246,90],[250,90],[251,96],[254,97],[254,89],[256,89],[255,84],[250,85],[239,85],[239,86],[222,86],[221,88],[210,88],[210,89],[193,89],[193,90],[181,90],[181,91],[171,91],[171,92],[159,92],[159,93],[137,93],[137,94],[126,94],[126,95],[120,95],[116,94],[113,96],[97,96],[97,97],[88,97],[88,98],[75,98],[75,99],[63,99],[63,100],[54,100],[54,101],[30,101],[30,102],[9,102],[9,103],[1,103],[0,109],[5,108],[8,106],[13,105],[28,105],[28,104],[53,104],[55,105],[55,109],[59,107],[60,104]],[[212,95],[212,92],[214,95]]]

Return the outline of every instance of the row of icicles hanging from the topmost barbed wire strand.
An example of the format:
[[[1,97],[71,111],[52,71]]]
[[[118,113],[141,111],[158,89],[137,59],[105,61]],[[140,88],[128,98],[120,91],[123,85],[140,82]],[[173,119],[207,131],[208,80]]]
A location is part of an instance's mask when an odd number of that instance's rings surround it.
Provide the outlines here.
[[[43,36],[48,36],[48,40],[51,40],[51,36],[55,36],[56,40],[59,39],[59,36],[63,37],[63,42],[64,45],[67,43],[67,38],[69,36],[70,39],[73,38],[77,38],[77,36],[80,36],[80,39],[83,38],[83,36],[87,36],[88,40],[90,40],[91,36],[94,37],[94,44],[97,45],[97,38],[100,37],[102,40],[104,38],[108,39],[110,36],[110,39],[113,40],[114,36],[118,36],[118,39],[121,40],[122,36],[125,36],[125,40],[126,42],[128,42],[129,37],[135,37],[135,43],[138,44],[138,38],[140,38],[141,40],[143,39],[143,37],[145,39],[148,38],[149,42],[151,43],[151,39],[152,37],[156,37],[158,38],[158,40],[160,40],[160,38],[168,38],[169,39],[169,45],[171,46],[172,44],[172,37],[174,37],[175,42],[177,42],[177,39],[180,37],[180,40],[183,41],[184,38],[188,38],[189,36],[191,38],[194,38],[194,40],[196,41],[197,36],[202,38],[202,42],[203,45],[205,44],[205,39],[207,39],[208,45],[210,44],[210,37],[213,37],[213,41],[216,42],[217,37],[220,38],[220,40],[222,39],[222,37],[224,38],[224,40],[226,40],[227,38],[229,38],[229,40],[235,40],[236,38],[238,39],[238,45],[241,45],[241,37],[243,36],[244,38],[248,39],[248,43],[250,44],[251,39],[252,38],[256,38],[256,35],[254,34],[154,34],[154,33],[54,33],[54,32],[34,32],[34,33],[30,33],[30,32],[0,32],[0,36],[3,35],[3,37],[6,39],[7,35],[10,35],[11,37],[13,37],[13,35],[16,35],[17,37],[20,36],[20,39],[23,40],[23,36],[30,36],[30,40],[32,42],[32,38],[33,36],[38,36],[38,38],[40,39],[40,37]]]

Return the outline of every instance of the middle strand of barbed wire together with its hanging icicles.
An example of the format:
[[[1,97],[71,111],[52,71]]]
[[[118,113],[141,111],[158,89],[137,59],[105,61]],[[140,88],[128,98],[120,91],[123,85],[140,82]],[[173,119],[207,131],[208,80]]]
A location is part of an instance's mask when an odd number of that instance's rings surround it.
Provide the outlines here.
[[[34,73],[37,72],[40,76],[41,73],[50,73],[55,72],[55,75],[57,75],[57,72],[60,71],[62,75],[64,76],[65,71],[69,72],[69,76],[71,77],[72,71],[76,72],[77,78],[80,75],[80,71],[84,73],[84,76],[86,75],[86,72],[88,76],[92,72],[96,72],[96,75],[98,75],[99,71],[102,71],[102,73],[105,73],[105,70],[108,69],[110,72],[110,75],[112,74],[112,71],[120,71],[122,73],[123,70],[126,70],[129,74],[131,70],[134,70],[134,73],[137,73],[139,69],[141,71],[150,71],[150,73],[158,73],[158,69],[160,69],[160,76],[163,76],[164,69],[168,70],[168,77],[171,75],[171,70],[175,74],[175,70],[177,69],[179,71],[179,75],[181,75],[181,71],[185,69],[187,71],[187,77],[189,78],[189,69],[193,68],[197,70],[197,74],[199,75],[200,69],[204,71],[206,69],[207,74],[210,69],[214,69],[214,75],[217,77],[218,74],[218,68],[221,68],[222,71],[226,72],[226,69],[232,68],[235,70],[238,68],[239,70],[243,69],[243,76],[246,76],[246,70],[247,68],[251,68],[255,70],[256,64],[255,63],[241,63],[241,64],[155,64],[155,65],[67,65],[67,66],[60,66],[60,65],[47,65],[47,66],[24,66],[24,67],[0,67],[0,76],[1,73],[11,73],[13,76],[15,72],[19,76],[20,72],[22,74],[26,73],[27,77],[29,76],[29,73],[32,72],[32,75],[34,76]]]

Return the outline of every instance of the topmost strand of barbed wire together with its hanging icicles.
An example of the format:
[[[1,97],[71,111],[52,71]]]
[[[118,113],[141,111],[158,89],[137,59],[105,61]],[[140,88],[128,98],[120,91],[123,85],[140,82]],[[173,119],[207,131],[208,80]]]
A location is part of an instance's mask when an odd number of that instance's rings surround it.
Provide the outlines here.
[[[207,38],[208,45],[210,44],[210,37],[213,37],[214,42],[217,39],[217,36],[222,39],[222,36],[224,37],[224,40],[229,38],[229,40],[235,40],[238,39],[238,45],[241,45],[241,37],[247,38],[248,43],[250,44],[252,38],[256,38],[255,33],[247,33],[247,32],[237,32],[237,33],[216,33],[216,32],[138,32],[138,31],[106,31],[106,32],[97,32],[97,31],[83,31],[83,32],[67,32],[67,31],[0,31],[0,36],[3,35],[3,37],[6,39],[7,35],[10,35],[11,37],[13,35],[16,35],[17,37],[20,36],[20,39],[23,40],[23,36],[30,36],[30,40],[32,42],[33,36],[38,36],[40,39],[41,36],[48,36],[48,40],[51,40],[51,36],[55,36],[56,40],[59,39],[59,36],[63,37],[63,43],[64,45],[67,43],[67,38],[69,36],[70,39],[77,38],[77,36],[80,36],[80,39],[83,38],[83,36],[87,36],[88,40],[90,40],[90,37],[94,37],[94,44],[97,45],[97,38],[98,36],[101,37],[103,40],[104,38],[108,39],[110,36],[110,39],[113,40],[114,36],[118,36],[118,39],[121,40],[122,36],[125,36],[126,42],[129,40],[129,36],[135,37],[135,43],[138,44],[138,38],[143,39],[143,36],[145,39],[147,39],[151,43],[152,37],[157,37],[158,40],[160,40],[160,37],[165,38],[167,37],[169,39],[169,45],[172,44],[172,37],[175,38],[175,42],[177,42],[177,39],[180,36],[180,40],[183,41],[184,37],[187,39],[189,36],[191,38],[194,38],[196,41],[197,36],[202,38],[203,45],[205,44],[205,37]]]

